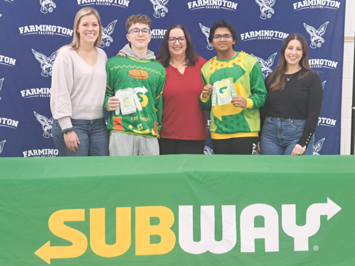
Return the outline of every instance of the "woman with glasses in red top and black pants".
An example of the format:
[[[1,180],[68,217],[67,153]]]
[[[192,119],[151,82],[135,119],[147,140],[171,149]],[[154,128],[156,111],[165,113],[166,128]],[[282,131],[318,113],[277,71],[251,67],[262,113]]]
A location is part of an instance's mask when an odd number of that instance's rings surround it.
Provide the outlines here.
[[[207,117],[199,97],[206,60],[196,54],[187,29],[176,24],[164,35],[158,61],[166,70],[160,155],[203,154]]]

